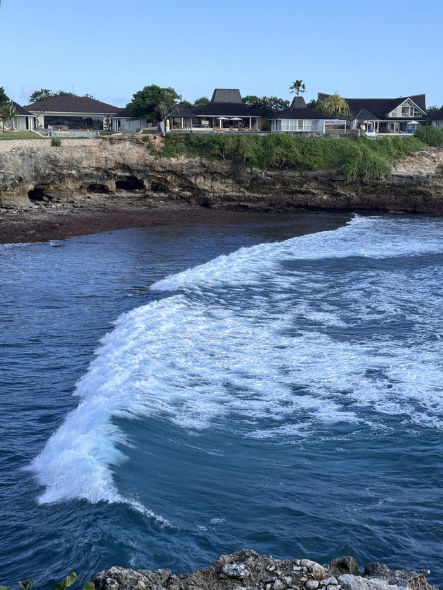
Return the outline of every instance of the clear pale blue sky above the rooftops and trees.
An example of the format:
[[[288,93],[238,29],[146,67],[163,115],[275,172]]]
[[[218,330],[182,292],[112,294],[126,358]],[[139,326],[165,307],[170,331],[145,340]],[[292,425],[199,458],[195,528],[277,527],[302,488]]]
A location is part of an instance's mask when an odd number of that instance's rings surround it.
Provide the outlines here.
[[[443,104],[443,3],[428,0],[1,0],[0,86],[124,106],[149,84],[191,102],[214,88],[291,98],[301,79],[347,98]]]

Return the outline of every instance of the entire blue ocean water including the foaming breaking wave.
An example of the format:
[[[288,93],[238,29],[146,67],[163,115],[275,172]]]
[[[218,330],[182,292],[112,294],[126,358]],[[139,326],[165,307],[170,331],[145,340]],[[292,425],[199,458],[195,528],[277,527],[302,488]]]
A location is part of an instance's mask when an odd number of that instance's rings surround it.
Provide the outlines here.
[[[0,246],[0,584],[243,547],[441,583],[443,219],[322,219]]]

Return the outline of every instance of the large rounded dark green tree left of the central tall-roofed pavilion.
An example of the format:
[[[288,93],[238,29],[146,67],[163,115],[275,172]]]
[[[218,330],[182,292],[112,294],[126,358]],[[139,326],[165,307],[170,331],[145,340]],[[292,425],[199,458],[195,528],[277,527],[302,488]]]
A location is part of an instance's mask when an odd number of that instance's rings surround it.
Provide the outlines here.
[[[164,120],[164,109],[171,107],[172,111],[177,107],[179,100],[181,100],[181,95],[177,94],[170,86],[161,88],[156,84],[151,84],[132,95],[132,101],[126,106],[129,116],[132,118],[157,122],[158,120]]]

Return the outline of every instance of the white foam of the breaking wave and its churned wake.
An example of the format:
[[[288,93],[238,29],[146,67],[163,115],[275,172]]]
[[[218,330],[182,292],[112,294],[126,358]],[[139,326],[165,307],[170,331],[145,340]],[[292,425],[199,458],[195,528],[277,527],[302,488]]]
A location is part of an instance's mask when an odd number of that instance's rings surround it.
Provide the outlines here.
[[[156,416],[197,432],[217,423],[253,439],[306,438],[338,423],[377,428],[392,416],[443,428],[440,349],[420,340],[435,330],[436,316],[417,320],[422,283],[380,268],[353,272],[350,264],[334,280],[327,267],[282,266],[443,251],[432,223],[426,232],[410,225],[408,239],[398,223],[357,217],[335,232],[242,248],[156,283],[183,293],[121,315],[102,339],[75,389],[78,408],[33,461],[46,488],[40,501],[129,501],[113,478],[127,443],[115,416]],[[420,280],[437,311],[441,268],[430,273]],[[383,322],[406,308],[405,345]],[[356,325],[374,335],[350,338]]]

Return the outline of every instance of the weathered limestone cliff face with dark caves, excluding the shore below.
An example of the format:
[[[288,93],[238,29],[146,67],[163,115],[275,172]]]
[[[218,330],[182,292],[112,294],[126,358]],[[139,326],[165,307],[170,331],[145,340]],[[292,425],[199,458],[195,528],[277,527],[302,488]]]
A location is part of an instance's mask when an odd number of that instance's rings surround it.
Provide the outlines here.
[[[443,212],[442,149],[398,161],[388,180],[347,181],[334,170],[263,171],[203,158],[158,158],[134,139],[30,144],[0,153],[2,206],[26,207],[45,196],[63,200],[87,192],[144,190],[219,208]]]

